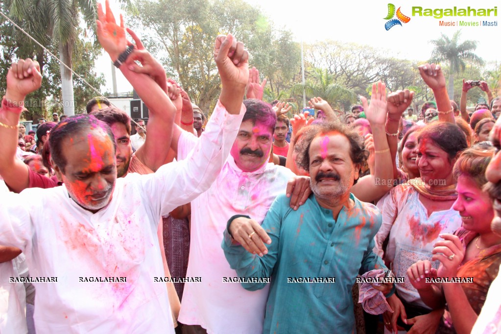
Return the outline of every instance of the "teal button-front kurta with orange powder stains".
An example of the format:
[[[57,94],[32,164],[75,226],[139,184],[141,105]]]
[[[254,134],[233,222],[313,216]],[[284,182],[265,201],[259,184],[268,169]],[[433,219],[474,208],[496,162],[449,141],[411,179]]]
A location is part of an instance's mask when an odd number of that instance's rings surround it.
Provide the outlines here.
[[[240,277],[271,277],[264,333],[355,331],[351,288],[357,274],[386,267],[372,252],[374,235],[381,226],[379,209],[353,194],[350,198],[355,205],[343,207],[335,221],[332,210],[321,207],[313,194],[297,211],[290,208],[289,198],[278,196],[262,225],[272,240],[263,257],[232,245],[224,232],[224,255]],[[336,279],[289,282],[305,277]],[[257,290],[265,284],[242,286]]]

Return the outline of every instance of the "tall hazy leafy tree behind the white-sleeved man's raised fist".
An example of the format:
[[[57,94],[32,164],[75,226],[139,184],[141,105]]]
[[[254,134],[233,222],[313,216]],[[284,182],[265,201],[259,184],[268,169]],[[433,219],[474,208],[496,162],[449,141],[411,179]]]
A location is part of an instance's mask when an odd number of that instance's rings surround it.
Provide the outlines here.
[[[239,0],[139,0],[130,25],[146,31],[146,48],[179,81],[191,100],[209,111],[220,92],[212,58],[217,35],[231,33],[245,44],[256,66],[278,94],[299,71],[299,46],[288,31],[276,30],[259,9]]]

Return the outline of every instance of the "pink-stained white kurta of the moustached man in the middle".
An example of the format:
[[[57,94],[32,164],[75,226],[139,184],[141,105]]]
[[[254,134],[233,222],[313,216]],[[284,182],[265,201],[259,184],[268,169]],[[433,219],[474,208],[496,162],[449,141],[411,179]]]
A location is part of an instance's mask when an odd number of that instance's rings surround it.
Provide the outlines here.
[[[183,159],[198,138],[179,139],[178,158]],[[259,334],[263,331],[269,285],[257,291],[240,283],[223,282],[237,277],[221,248],[228,219],[248,215],[260,224],[287,181],[295,176],[290,169],[265,164],[254,172],[242,172],[228,157],[209,190],[191,202],[191,239],[186,276],[201,276],[201,282],[185,283],[178,320],[198,324],[209,334]]]

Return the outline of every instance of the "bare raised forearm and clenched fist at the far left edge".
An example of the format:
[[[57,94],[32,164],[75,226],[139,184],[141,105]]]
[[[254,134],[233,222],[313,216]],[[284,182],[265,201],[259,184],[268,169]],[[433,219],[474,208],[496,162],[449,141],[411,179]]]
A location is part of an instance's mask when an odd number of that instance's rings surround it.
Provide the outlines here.
[[[42,75],[38,62],[31,59],[13,63],[7,73],[7,91],[0,109],[0,143],[3,151],[0,155],[0,175],[14,192],[28,188],[29,168],[16,156],[18,147],[19,118],[23,112],[26,95],[36,91],[42,84]]]

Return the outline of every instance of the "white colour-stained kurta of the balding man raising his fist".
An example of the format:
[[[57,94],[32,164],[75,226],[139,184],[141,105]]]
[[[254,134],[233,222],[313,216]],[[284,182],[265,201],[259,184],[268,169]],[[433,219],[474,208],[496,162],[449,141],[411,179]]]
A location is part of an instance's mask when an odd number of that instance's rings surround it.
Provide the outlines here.
[[[37,333],[174,332],[157,225],[161,215],[192,201],[219,173],[238,131],[240,115],[218,102],[204,138],[186,160],[154,174],[116,180],[110,203],[96,213],[80,207],[63,185],[8,194],[0,203],[0,244],[19,247],[34,283]],[[26,208],[28,199],[36,198]],[[126,282],[82,282],[80,277],[126,277]]]

